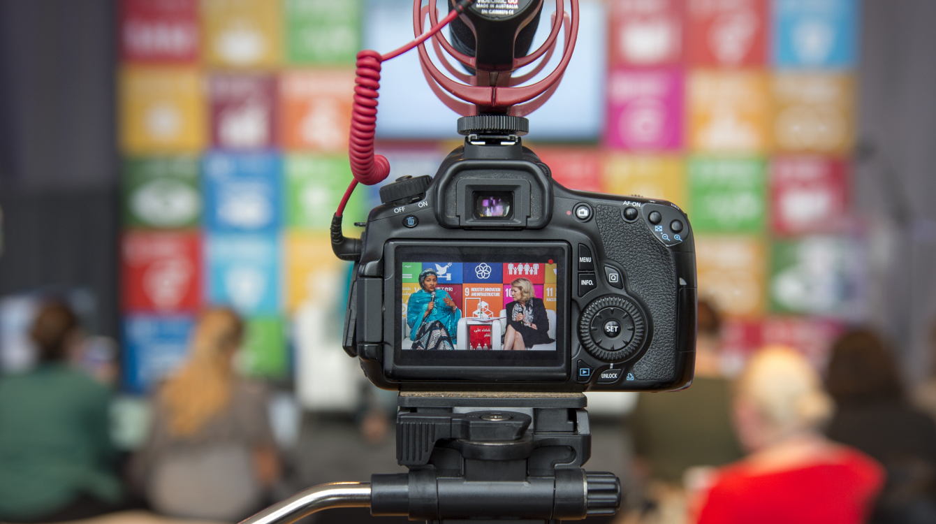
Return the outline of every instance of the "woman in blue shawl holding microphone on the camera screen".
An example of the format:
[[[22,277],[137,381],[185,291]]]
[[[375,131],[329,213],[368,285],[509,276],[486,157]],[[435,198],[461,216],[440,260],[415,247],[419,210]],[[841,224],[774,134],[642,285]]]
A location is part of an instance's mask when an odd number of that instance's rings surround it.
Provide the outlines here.
[[[406,302],[406,324],[413,349],[455,349],[461,311],[445,289],[436,289],[435,269],[419,273],[419,289]]]

